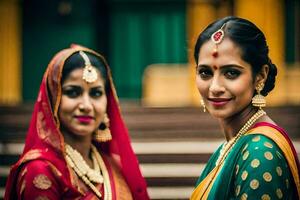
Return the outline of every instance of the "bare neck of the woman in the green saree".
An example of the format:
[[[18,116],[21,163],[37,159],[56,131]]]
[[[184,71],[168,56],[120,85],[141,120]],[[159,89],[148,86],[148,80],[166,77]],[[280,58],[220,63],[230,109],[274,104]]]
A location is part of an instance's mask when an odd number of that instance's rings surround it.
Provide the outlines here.
[[[244,124],[257,112],[257,109],[251,105],[247,106],[241,112],[226,118],[220,119],[219,123],[223,129],[224,136],[227,141],[236,136]]]

